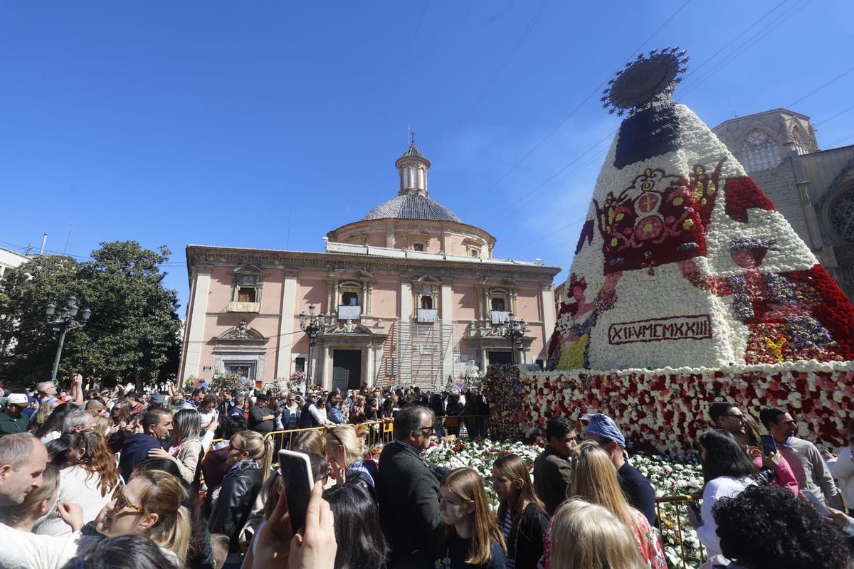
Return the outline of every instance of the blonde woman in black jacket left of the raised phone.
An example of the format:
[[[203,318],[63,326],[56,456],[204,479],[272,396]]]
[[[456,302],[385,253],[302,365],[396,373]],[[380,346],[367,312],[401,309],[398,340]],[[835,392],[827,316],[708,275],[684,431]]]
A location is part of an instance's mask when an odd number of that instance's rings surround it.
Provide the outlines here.
[[[231,436],[226,461],[230,468],[206,503],[210,512],[208,531],[228,536],[230,551],[239,549],[240,530],[249,520],[255,497],[270,475],[275,446],[272,437],[265,439],[256,431],[241,431]]]

